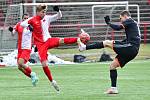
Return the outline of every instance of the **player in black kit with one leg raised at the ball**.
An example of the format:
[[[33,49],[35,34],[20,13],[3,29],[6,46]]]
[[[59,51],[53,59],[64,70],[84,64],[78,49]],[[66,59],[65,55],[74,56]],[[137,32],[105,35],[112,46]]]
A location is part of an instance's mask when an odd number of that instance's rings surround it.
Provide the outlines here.
[[[140,47],[141,35],[138,24],[131,18],[131,15],[128,11],[121,12],[120,25],[112,24],[109,16],[105,16],[104,19],[106,24],[114,30],[125,29],[126,39],[123,41],[105,40],[103,42],[95,42],[87,45],[80,43],[79,51],[109,47],[116,52],[117,56],[110,64],[111,88],[109,88],[105,93],[118,94],[116,85],[117,68],[123,68],[126,63],[136,57]]]

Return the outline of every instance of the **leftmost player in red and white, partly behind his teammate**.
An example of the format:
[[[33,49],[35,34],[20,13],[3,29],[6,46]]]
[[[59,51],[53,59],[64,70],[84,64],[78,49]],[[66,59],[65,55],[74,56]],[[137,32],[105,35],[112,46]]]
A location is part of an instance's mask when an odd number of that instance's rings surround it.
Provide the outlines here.
[[[28,14],[23,14],[22,21],[29,18]],[[21,22],[18,22],[14,27],[9,27],[9,31],[12,35],[18,33],[18,56],[17,63],[18,69],[22,71],[26,76],[31,78],[33,86],[36,86],[38,77],[35,72],[26,64],[30,59],[31,45],[32,45],[32,32],[31,27],[22,27]]]

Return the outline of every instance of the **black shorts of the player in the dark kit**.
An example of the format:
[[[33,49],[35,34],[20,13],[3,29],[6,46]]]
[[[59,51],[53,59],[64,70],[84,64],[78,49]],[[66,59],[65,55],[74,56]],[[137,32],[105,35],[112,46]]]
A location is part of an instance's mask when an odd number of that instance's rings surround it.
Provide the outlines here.
[[[120,67],[131,61],[138,54],[138,49],[131,43],[114,41],[113,50],[116,52]]]

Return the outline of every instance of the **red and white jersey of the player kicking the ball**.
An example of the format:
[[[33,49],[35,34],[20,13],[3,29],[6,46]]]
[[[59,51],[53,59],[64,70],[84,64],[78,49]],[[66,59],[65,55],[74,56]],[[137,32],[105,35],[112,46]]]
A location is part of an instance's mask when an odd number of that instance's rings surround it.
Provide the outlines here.
[[[61,11],[54,15],[45,15],[42,19],[40,16],[31,17],[21,23],[21,26],[27,27],[29,24],[33,27],[33,37],[35,42],[46,42],[51,38],[49,33],[50,23],[62,17]]]

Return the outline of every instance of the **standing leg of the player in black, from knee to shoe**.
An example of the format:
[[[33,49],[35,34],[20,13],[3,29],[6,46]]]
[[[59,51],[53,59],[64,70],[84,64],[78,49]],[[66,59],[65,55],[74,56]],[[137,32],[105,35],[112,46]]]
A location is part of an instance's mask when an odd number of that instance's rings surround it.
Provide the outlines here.
[[[118,94],[117,89],[117,67],[119,67],[119,63],[116,59],[110,65],[110,79],[111,79],[111,88],[109,88],[105,93],[106,94]]]

